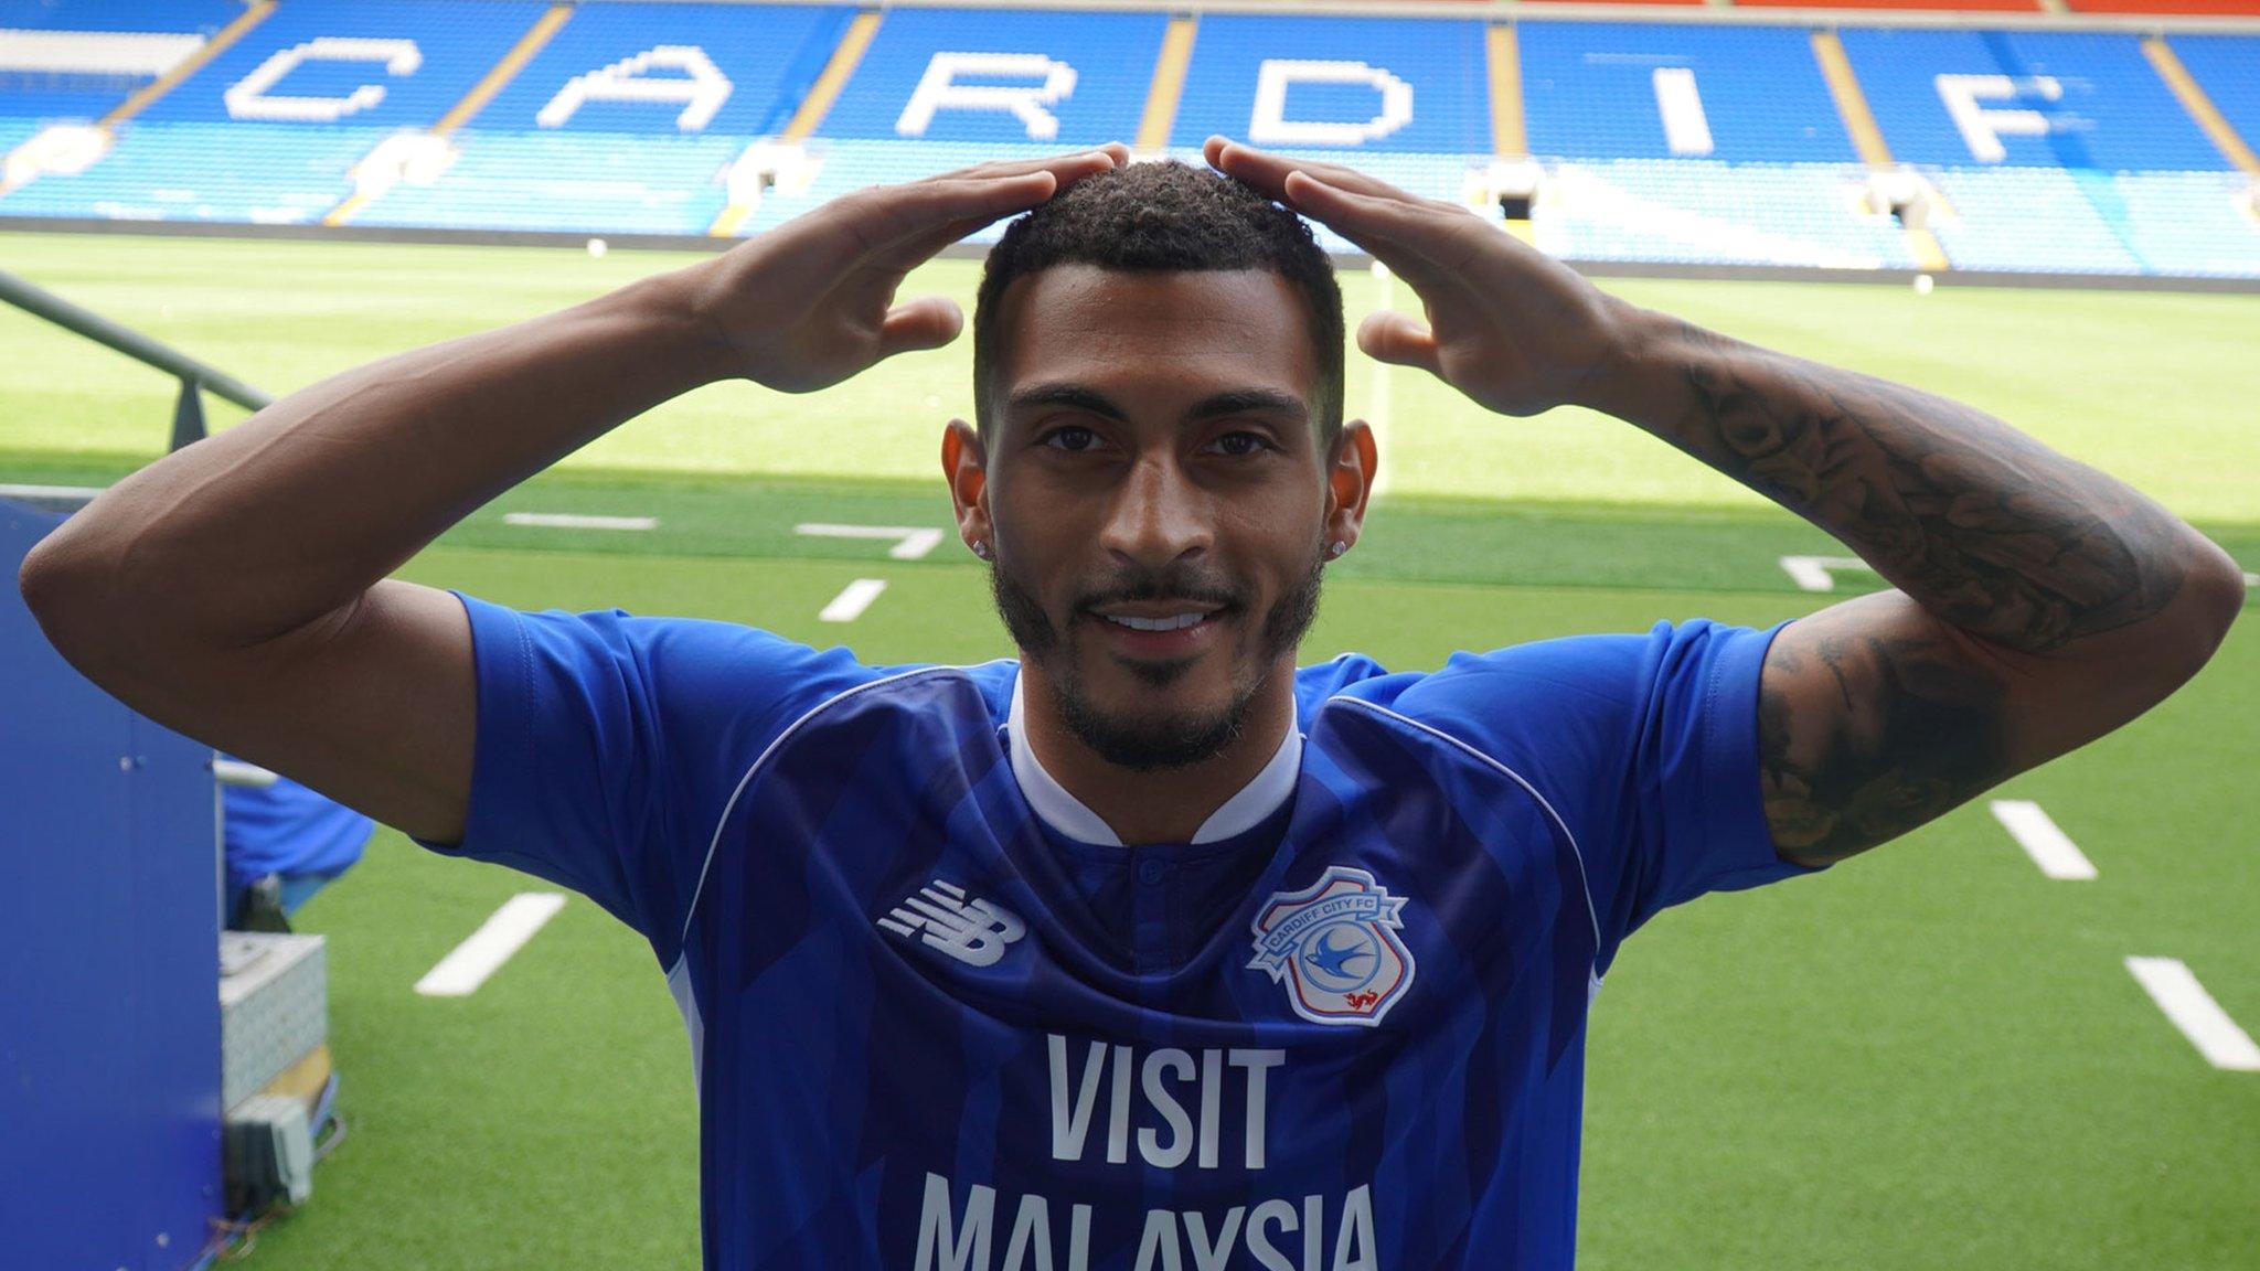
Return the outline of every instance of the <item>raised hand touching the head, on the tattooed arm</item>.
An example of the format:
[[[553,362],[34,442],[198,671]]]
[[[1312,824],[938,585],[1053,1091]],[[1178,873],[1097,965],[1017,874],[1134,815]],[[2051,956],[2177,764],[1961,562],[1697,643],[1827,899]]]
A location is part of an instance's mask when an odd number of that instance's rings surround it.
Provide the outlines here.
[[[1209,165],[1324,222],[1412,285],[1428,321],[1381,312],[1358,348],[1419,366],[1501,414],[1584,400],[1632,323],[1623,301],[1460,204],[1415,199],[1349,167],[1209,138]]]

